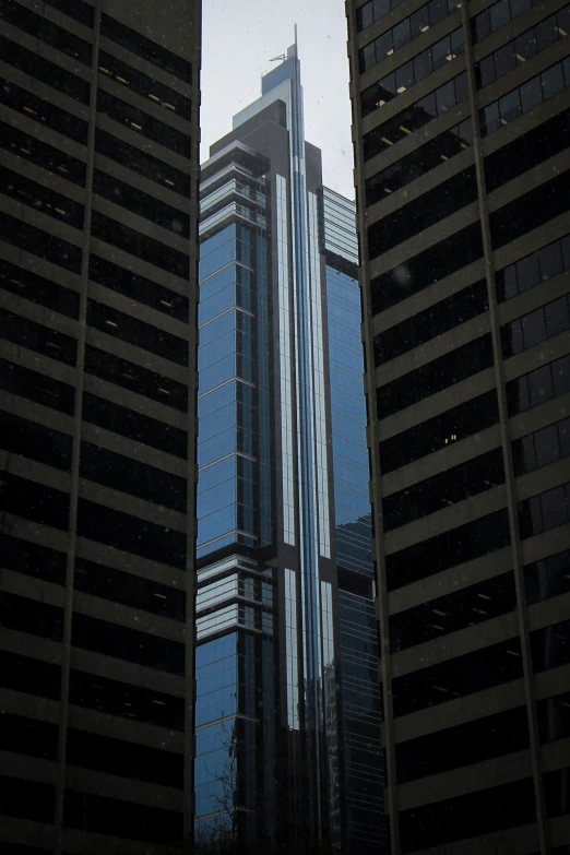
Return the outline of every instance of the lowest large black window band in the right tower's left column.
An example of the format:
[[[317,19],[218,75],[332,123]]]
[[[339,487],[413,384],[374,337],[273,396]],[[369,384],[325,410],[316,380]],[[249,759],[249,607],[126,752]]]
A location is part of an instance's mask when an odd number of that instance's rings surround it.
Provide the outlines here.
[[[533,822],[535,817],[532,777],[458,795],[400,814],[402,852],[431,846],[444,848],[444,844],[451,841],[525,826]],[[501,845],[509,851],[509,833],[503,833],[500,840]]]

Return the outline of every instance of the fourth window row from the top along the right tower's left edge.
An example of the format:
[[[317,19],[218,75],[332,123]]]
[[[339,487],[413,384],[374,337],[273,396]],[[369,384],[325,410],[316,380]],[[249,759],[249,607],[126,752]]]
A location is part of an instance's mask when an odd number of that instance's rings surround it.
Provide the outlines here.
[[[369,161],[400,140],[405,140],[413,131],[417,131],[418,128],[423,128],[451,107],[465,100],[467,95],[467,75],[463,71],[392,119],[365,133],[363,138],[364,159]]]

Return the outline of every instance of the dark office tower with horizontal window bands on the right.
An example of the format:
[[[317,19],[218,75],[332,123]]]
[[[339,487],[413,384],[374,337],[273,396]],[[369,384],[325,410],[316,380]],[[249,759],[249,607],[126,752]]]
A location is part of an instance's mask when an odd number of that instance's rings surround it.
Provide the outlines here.
[[[570,845],[570,7],[347,3],[392,853]]]

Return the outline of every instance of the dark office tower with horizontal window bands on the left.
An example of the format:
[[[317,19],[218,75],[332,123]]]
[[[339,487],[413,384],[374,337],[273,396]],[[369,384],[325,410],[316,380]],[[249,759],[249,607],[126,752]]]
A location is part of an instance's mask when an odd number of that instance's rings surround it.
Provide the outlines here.
[[[200,3],[2,0],[0,851],[192,828]]]

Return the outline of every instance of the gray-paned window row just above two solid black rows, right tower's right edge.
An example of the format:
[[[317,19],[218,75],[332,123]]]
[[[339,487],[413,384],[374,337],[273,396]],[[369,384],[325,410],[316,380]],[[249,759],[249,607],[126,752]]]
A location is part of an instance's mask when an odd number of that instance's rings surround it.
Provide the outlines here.
[[[480,109],[482,135],[488,136],[495,133],[503,124],[509,124],[568,86],[570,86],[570,57],[550,66],[546,71],[542,71]]]

